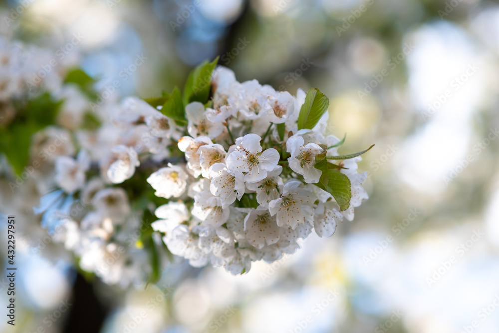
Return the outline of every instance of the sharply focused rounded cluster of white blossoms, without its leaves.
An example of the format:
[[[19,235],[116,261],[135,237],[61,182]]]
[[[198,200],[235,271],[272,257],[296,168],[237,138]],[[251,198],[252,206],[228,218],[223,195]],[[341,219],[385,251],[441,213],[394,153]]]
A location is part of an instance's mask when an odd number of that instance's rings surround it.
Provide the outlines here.
[[[170,200],[156,209],[160,220],[152,227],[173,254],[195,267],[211,263],[241,274],[252,261],[294,253],[311,232],[329,237],[353,219],[367,198],[366,174],[357,172],[361,157],[338,166],[352,184],[347,209],[316,185],[327,172],[316,163],[338,155],[340,140],[325,133],[327,112],[313,128],[298,129],[301,89],[292,96],[256,80],[240,83],[224,67],[214,71],[212,87],[207,105],[185,107],[189,135],[178,147],[187,163],[147,179],[156,196]]]

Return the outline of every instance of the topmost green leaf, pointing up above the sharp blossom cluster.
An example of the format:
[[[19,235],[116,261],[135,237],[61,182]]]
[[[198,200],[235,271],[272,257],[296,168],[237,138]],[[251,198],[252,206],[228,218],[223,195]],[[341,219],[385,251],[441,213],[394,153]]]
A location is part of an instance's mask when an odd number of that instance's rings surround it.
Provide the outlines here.
[[[204,61],[197,66],[187,78],[184,88],[184,104],[201,102],[205,104],[210,96],[212,72],[218,62],[218,57],[213,62]]]

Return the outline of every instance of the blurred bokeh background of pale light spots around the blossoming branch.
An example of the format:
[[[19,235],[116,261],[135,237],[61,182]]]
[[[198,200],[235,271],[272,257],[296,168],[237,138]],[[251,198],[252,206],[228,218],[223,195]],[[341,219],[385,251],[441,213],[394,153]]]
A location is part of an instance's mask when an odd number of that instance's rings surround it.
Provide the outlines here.
[[[81,67],[98,88],[122,80],[119,96],[170,91],[220,55],[240,81],[320,88],[345,152],[376,144],[359,166],[370,198],[353,222],[243,276],[179,264],[123,290],[20,246],[17,325],[4,318],[1,332],[499,331],[495,1],[11,0],[0,18],[2,34],[54,51],[81,35]],[[2,213],[34,221],[35,204],[8,191]]]

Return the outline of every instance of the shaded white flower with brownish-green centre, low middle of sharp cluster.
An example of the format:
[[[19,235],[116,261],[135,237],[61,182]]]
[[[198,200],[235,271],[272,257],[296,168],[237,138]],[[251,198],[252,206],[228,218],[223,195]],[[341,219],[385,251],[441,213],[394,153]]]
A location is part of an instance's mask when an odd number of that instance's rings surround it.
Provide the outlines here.
[[[275,216],[270,216],[266,209],[251,209],[245,218],[245,230],[251,246],[261,249],[265,244],[277,243],[280,236]]]

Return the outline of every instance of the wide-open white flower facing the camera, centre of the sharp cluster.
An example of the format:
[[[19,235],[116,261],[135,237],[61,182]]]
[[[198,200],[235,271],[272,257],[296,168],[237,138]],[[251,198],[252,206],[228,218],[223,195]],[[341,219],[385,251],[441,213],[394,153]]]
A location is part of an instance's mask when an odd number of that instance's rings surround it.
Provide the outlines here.
[[[247,172],[245,181],[259,182],[267,177],[279,162],[279,153],[274,148],[261,152],[261,138],[256,134],[247,134],[236,140],[236,150],[227,157],[227,167],[232,172]]]

